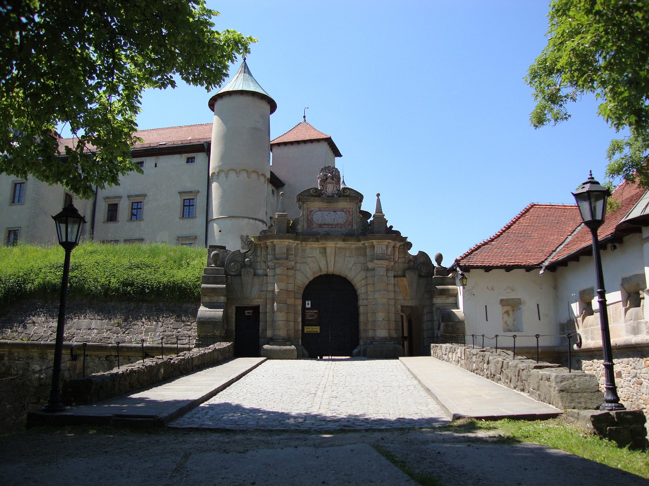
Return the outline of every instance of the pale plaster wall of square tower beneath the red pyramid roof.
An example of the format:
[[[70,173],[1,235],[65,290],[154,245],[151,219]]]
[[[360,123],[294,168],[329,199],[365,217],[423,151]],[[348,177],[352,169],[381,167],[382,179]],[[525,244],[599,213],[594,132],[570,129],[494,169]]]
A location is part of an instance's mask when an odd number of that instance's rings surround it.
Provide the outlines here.
[[[295,196],[318,187],[318,172],[327,165],[336,167],[336,157],[326,141],[273,146],[273,172],[286,184],[281,190],[290,219],[300,215]]]

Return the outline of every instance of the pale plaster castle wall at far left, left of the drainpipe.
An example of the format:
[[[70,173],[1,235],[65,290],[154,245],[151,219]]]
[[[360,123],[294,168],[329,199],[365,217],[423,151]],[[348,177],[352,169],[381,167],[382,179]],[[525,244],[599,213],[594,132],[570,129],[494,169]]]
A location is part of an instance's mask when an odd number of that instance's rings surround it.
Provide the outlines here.
[[[12,204],[13,183],[25,181],[23,203]],[[51,216],[63,209],[66,191],[61,185],[48,185],[35,178],[27,180],[0,174],[0,244],[6,244],[9,228],[19,228],[19,242],[29,244],[58,244],[56,229]],[[75,207],[89,224],[84,227],[82,238],[90,231],[90,200],[73,199]]]

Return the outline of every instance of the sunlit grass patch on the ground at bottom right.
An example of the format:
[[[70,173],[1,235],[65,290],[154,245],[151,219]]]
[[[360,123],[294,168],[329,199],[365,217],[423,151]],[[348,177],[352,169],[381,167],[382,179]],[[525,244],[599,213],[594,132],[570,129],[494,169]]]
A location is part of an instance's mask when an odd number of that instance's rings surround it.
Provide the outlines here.
[[[534,442],[570,454],[585,457],[649,479],[649,451],[620,448],[615,443],[600,439],[561,419],[549,421],[463,420],[446,427],[452,432],[489,432],[507,443]]]

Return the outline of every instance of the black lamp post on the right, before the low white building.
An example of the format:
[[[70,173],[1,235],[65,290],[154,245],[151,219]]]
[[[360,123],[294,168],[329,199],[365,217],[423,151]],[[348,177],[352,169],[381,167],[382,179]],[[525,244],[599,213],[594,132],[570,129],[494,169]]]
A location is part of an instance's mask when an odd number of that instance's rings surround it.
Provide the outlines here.
[[[604,378],[606,380],[604,384],[604,403],[600,405],[600,410],[624,410],[624,405],[620,403],[620,397],[617,395],[617,387],[615,386],[613,350],[611,349],[611,334],[609,332],[606,308],[606,290],[604,290],[604,272],[602,272],[602,258],[600,257],[600,246],[597,238],[597,229],[604,223],[606,200],[611,195],[611,192],[600,185],[593,178],[593,172],[591,172],[588,180],[580,185],[572,195],[582,214],[583,224],[591,230],[593,237],[593,259],[595,260],[595,273],[597,276],[597,302],[600,308]]]

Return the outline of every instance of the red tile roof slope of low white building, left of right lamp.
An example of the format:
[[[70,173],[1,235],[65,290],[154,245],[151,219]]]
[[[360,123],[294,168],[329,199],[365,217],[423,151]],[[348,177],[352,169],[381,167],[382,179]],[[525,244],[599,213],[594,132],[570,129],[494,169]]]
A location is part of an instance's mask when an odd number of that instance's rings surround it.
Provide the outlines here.
[[[462,268],[539,267],[581,222],[576,205],[532,203],[456,262]]]

